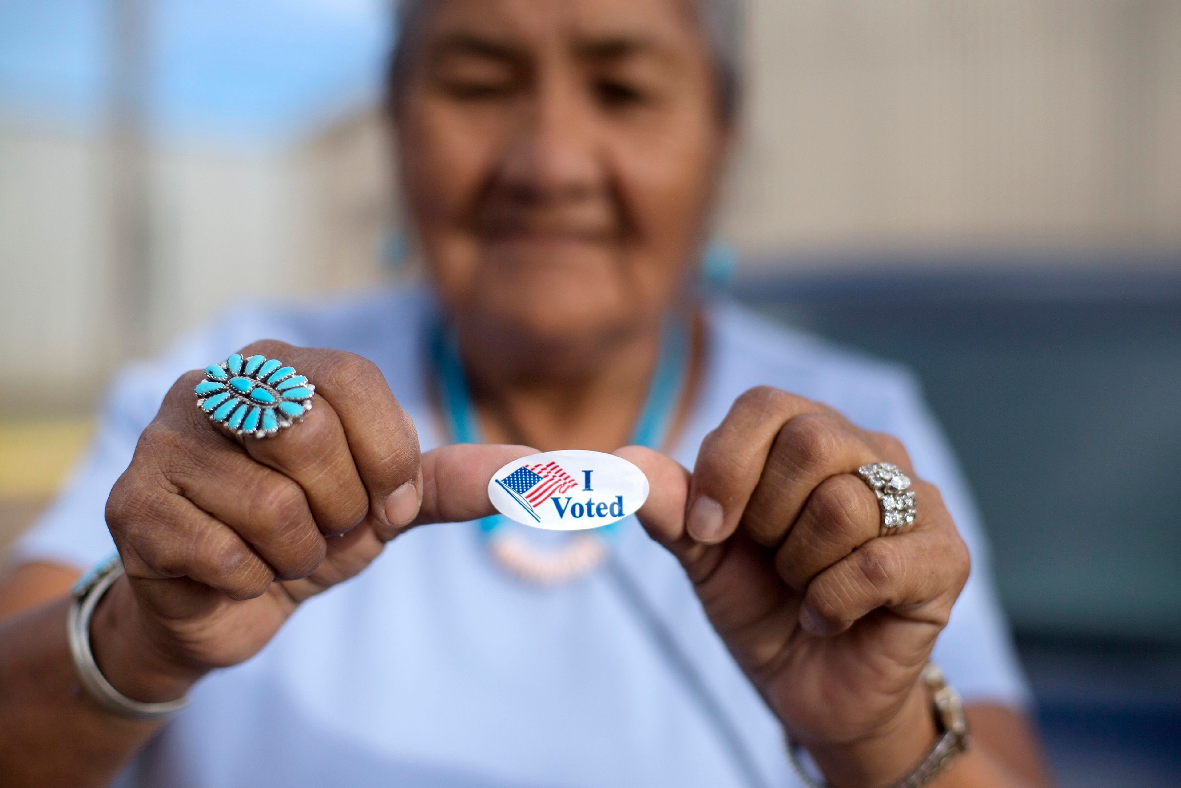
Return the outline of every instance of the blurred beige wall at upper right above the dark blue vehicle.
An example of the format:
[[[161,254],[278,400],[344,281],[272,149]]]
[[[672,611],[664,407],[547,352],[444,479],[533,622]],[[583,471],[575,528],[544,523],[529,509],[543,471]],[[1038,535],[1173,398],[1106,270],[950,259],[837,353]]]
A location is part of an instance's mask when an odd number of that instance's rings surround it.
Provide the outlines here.
[[[1181,2],[756,0],[749,30],[744,249],[1181,249]]]

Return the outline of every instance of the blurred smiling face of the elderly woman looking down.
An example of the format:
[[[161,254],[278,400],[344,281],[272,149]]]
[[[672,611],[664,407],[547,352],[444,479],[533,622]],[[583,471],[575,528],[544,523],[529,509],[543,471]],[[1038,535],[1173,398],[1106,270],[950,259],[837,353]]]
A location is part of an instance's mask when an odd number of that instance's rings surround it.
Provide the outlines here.
[[[685,281],[727,135],[690,0],[435,0],[394,115],[449,312],[528,344],[648,327]]]

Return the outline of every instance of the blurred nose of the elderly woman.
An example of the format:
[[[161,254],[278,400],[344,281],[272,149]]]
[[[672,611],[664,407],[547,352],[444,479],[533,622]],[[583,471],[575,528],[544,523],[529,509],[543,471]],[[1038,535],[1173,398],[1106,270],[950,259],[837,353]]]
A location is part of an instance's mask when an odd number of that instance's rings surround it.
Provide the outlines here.
[[[603,185],[594,118],[573,85],[541,80],[517,124],[502,161],[502,185],[530,204],[579,202]]]

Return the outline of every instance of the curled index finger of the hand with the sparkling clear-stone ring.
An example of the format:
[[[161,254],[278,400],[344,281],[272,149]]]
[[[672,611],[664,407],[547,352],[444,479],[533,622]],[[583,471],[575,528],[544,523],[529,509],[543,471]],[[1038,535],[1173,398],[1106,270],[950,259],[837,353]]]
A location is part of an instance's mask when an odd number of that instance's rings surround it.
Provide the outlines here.
[[[738,397],[698,450],[690,482],[689,533],[704,543],[726,540],[738,527],[779,429],[801,413],[824,411],[818,403],[771,386]]]

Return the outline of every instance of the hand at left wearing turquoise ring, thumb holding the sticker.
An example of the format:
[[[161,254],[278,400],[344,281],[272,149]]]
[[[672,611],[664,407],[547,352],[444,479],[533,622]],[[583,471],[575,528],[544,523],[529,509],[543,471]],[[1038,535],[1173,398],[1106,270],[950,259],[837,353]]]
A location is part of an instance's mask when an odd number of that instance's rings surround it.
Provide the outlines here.
[[[126,578],[91,624],[99,669],[124,695],[165,701],[241,663],[308,597],[355,575],[422,522],[490,514],[485,487],[521,447],[419,456],[413,423],[371,362],[261,341],[315,384],[304,422],[242,441],[181,377],[115,484],[106,522]]]

